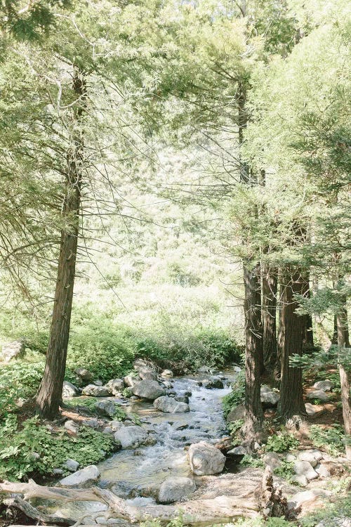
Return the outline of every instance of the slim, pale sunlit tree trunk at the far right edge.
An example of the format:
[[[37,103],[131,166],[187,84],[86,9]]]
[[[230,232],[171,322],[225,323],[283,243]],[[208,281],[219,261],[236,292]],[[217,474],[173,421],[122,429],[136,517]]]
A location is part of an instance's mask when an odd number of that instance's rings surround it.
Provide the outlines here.
[[[346,303],[346,299],[345,299]],[[351,460],[351,401],[350,401],[350,371],[345,368],[345,348],[350,349],[350,338],[347,323],[347,311],[343,308],[340,313],[336,315],[336,323],[338,328],[338,346],[340,350],[339,360],[339,375],[341,385],[341,403],[343,405],[343,421],[346,433],[346,457]],[[350,351],[350,350],[349,350]],[[348,353],[345,353],[347,356]]]

